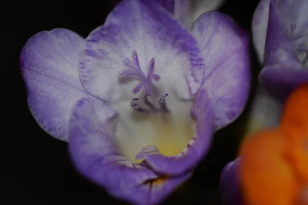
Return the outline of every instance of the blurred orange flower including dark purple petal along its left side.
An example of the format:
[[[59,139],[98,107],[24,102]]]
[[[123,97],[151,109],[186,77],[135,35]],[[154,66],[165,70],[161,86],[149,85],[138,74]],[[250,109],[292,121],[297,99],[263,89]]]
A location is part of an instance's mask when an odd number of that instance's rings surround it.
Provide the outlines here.
[[[307,204],[308,84],[286,101],[279,127],[244,141],[221,175],[224,204]],[[242,196],[242,197],[241,197]]]

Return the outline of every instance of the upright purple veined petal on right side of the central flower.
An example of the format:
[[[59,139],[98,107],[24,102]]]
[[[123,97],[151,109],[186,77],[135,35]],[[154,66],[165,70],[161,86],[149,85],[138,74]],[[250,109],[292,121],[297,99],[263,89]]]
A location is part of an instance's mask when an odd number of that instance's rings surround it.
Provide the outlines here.
[[[251,83],[248,35],[232,18],[215,11],[202,14],[191,32],[202,49],[202,87],[213,100],[220,129],[235,120],[246,104]]]

